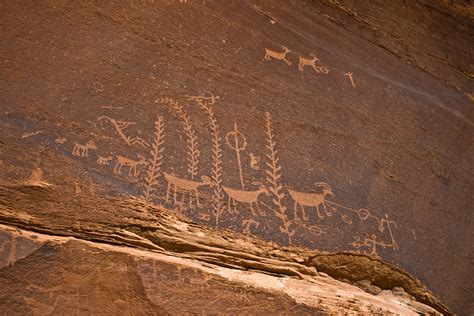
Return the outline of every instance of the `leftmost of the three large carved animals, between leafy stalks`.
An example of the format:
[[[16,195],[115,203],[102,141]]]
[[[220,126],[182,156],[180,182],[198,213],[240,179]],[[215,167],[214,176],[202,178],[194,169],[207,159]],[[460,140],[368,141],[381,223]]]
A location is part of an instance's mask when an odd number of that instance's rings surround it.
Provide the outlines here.
[[[199,191],[198,188],[202,186],[208,186],[212,184],[212,181],[207,176],[202,176],[202,181],[194,181],[179,178],[175,175],[163,172],[166,181],[168,181],[168,188],[166,189],[166,199],[165,203],[169,203],[169,195],[171,190],[173,190],[173,201],[176,204],[176,193],[178,190],[183,191],[182,193],[185,194],[186,192],[189,193],[189,207],[192,207],[192,193],[196,198],[196,206],[201,207],[199,203]],[[184,196],[183,196],[184,197]]]

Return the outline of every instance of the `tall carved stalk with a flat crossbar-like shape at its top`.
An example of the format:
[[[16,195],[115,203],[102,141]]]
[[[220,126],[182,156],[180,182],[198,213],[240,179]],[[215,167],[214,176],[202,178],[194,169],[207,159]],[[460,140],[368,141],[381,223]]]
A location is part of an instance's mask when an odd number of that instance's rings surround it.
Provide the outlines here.
[[[215,97],[214,95],[210,94],[210,96],[191,96],[188,99],[195,101],[201,107],[201,109],[206,113],[209,121],[209,128],[211,130],[212,136],[212,207],[215,215],[216,226],[219,226],[219,220],[224,209],[224,193],[222,190],[222,139],[220,137],[219,124],[211,106],[219,99],[219,97]]]

